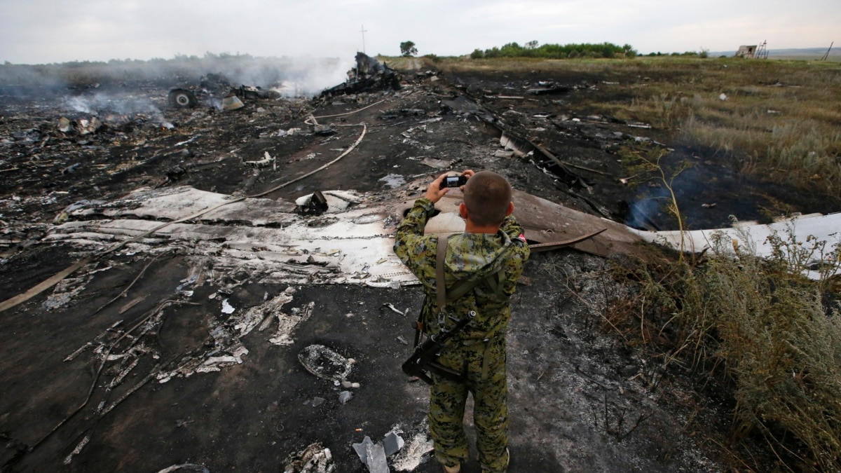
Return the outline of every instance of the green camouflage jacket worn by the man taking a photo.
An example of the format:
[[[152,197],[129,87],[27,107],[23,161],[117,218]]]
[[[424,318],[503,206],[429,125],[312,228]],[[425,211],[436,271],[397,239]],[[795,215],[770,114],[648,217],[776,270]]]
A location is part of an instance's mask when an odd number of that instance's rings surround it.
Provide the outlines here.
[[[436,252],[437,235],[424,235],[424,227],[435,210],[429,199],[418,199],[397,227],[394,252],[423,284],[424,300],[421,318],[424,332],[438,332],[436,310]],[[489,233],[463,233],[449,239],[444,258],[444,284],[447,289],[463,279],[484,279],[500,272],[500,293],[485,284],[477,285],[458,300],[447,303],[447,314],[461,319],[476,311],[476,319],[456,339],[484,338],[489,334],[505,332],[511,317],[510,296],[514,294],[517,279],[530,251],[523,236],[523,229],[513,215],[505,217],[500,231]],[[442,237],[442,242],[447,242]],[[501,295],[501,296],[500,296]],[[452,327],[455,322],[446,322]]]

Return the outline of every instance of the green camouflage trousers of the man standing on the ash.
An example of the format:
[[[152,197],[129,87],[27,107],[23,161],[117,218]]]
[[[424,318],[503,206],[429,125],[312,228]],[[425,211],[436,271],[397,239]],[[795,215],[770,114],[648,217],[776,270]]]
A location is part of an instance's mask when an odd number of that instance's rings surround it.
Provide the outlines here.
[[[508,467],[508,385],[505,378],[505,335],[488,342],[463,341],[447,347],[438,359],[447,368],[465,374],[464,382],[434,375],[430,387],[429,429],[436,460],[444,465],[468,459],[464,433],[464,407],[473,395],[476,449],[483,471],[503,472]]]

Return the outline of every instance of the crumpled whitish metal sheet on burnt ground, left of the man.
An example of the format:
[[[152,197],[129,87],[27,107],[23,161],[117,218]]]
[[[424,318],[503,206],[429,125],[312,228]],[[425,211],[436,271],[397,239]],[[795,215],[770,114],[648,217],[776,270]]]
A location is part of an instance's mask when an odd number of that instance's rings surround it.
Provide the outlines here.
[[[291,204],[245,199],[197,219],[214,225],[173,223],[129,243],[125,251],[177,245],[188,254],[213,259],[214,268],[244,270],[264,283],[415,284],[415,277],[392,251],[396,206],[346,192],[335,194],[355,205],[341,213],[306,217],[294,214]],[[188,187],[139,189],[108,204],[72,210],[71,218],[85,220],[53,227],[45,241],[97,251],[155,230],[161,221],[182,219],[227,200],[228,195]]]

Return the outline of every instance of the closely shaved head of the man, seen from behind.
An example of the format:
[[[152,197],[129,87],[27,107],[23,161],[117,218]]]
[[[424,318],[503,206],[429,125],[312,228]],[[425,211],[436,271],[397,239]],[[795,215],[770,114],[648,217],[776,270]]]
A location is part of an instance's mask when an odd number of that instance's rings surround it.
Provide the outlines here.
[[[491,171],[473,174],[464,184],[464,205],[470,220],[480,226],[500,225],[511,203],[511,186]]]

